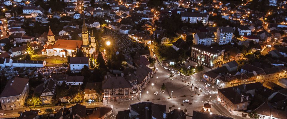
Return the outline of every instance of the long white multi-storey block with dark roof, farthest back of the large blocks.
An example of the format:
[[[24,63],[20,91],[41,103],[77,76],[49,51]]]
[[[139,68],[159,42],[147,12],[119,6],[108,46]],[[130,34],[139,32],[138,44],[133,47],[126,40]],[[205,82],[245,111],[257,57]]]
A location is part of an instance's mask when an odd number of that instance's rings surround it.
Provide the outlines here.
[[[198,13],[198,12],[183,12],[181,13],[181,21],[189,22],[191,24],[198,23],[202,20],[202,23],[205,24],[208,21],[207,13]]]

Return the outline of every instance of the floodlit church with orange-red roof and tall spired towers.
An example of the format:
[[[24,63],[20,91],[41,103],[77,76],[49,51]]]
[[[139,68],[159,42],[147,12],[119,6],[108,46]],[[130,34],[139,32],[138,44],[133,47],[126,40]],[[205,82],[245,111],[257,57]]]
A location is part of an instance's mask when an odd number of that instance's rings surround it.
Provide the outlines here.
[[[67,57],[76,57],[77,51],[81,50],[86,57],[96,56],[96,40],[91,31],[91,35],[88,33],[88,28],[85,24],[85,18],[83,21],[82,29],[82,41],[80,40],[55,40],[55,35],[49,28],[47,35],[48,41],[43,46],[42,55],[47,56],[60,56]]]

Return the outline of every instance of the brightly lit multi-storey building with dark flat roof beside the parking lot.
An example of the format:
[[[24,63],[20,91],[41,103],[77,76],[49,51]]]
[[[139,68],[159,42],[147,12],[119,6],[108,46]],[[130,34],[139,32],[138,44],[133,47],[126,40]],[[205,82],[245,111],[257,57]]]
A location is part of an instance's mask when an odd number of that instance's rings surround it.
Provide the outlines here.
[[[191,60],[207,67],[216,67],[223,63],[224,51],[217,46],[195,45],[191,49]]]

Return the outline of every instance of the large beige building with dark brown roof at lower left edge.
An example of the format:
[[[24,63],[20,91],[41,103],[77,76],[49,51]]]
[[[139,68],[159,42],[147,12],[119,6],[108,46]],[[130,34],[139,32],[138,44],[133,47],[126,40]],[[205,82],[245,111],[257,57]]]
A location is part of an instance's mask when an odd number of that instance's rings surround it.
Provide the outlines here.
[[[29,92],[29,79],[15,77],[8,80],[1,92],[1,107],[3,110],[24,108]]]

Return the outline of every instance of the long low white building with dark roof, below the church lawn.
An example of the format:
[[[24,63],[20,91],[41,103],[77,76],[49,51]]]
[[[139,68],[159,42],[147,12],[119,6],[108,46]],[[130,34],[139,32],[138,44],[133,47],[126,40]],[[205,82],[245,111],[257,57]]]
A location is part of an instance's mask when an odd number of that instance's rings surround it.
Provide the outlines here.
[[[38,60],[13,60],[13,67],[44,67],[46,61]]]

